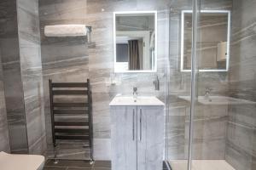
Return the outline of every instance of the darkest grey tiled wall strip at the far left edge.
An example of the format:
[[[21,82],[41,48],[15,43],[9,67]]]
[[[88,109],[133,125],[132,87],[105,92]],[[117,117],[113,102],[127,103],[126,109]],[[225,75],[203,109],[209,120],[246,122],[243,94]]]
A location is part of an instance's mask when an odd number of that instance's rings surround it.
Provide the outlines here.
[[[2,52],[3,83],[9,124],[10,150],[27,153],[26,117],[23,86],[20,77],[20,49],[17,8],[15,0],[0,2],[0,48]]]

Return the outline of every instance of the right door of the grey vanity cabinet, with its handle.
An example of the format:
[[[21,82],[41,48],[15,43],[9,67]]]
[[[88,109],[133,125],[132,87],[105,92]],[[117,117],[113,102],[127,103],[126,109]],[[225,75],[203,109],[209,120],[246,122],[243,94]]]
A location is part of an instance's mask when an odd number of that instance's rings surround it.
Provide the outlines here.
[[[137,170],[161,170],[164,150],[164,107],[137,107]]]

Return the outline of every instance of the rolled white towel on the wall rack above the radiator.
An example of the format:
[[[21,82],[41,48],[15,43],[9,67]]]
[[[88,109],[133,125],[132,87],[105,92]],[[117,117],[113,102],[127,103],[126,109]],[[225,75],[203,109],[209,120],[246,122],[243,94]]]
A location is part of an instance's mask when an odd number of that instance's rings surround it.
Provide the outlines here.
[[[45,26],[44,35],[46,37],[77,37],[86,36],[87,28],[85,25],[56,25]]]

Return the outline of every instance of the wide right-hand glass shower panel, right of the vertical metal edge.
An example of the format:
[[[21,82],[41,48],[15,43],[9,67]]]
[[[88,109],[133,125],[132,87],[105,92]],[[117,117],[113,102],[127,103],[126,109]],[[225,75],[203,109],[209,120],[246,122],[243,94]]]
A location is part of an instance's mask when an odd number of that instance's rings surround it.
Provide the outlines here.
[[[190,169],[254,170],[256,2],[198,4]]]

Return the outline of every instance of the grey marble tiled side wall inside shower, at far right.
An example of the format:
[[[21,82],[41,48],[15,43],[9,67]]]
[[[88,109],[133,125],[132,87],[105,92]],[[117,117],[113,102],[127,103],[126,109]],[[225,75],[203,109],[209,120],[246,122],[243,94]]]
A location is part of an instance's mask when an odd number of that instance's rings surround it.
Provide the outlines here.
[[[256,2],[233,1],[230,96],[256,101]],[[225,159],[236,169],[256,167],[256,105],[230,105]]]

